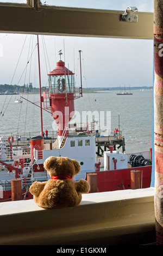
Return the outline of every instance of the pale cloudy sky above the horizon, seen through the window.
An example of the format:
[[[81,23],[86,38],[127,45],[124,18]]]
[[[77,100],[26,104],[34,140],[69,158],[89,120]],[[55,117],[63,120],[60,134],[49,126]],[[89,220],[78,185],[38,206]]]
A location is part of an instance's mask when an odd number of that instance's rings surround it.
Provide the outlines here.
[[[136,6],[138,11],[153,12],[153,0],[45,1],[48,5],[111,10],[125,10],[128,6]],[[77,87],[80,86],[79,50],[82,50],[82,81],[85,88],[128,87],[129,84],[130,87],[153,86],[153,40],[40,35],[39,45],[41,86],[47,86],[47,74],[55,68],[59,50],[62,50],[61,58],[67,68],[76,73]],[[0,84],[22,86],[32,82],[34,87],[39,87],[35,46],[35,35],[0,34]]]

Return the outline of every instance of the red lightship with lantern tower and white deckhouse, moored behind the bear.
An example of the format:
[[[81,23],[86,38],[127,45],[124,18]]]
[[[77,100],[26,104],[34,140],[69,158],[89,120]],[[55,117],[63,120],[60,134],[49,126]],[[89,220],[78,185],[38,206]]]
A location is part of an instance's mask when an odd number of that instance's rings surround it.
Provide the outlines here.
[[[61,56],[61,52],[59,54]],[[94,175],[95,181],[93,182],[96,183],[96,190],[93,192],[131,188],[131,174],[134,170],[137,170],[135,173],[139,175],[139,188],[149,187],[152,170],[149,156],[143,156],[140,153],[139,156],[148,161],[138,162],[136,158],[132,160],[130,156],[114,150],[113,145],[110,145],[111,147],[108,151],[104,151],[103,156],[97,157],[95,122],[70,126],[69,122],[74,112],[74,100],[82,96],[82,82],[80,87],[74,86],[74,73],[65,67],[61,58],[48,77],[49,85],[43,89],[43,96],[40,84],[41,136],[31,138],[30,146],[23,147],[14,147],[12,137],[1,137],[0,201],[12,199],[11,181],[15,179],[21,179],[21,199],[32,198],[32,194],[28,191],[32,182],[51,179],[46,169],[43,168],[43,163],[47,157],[52,155],[67,156],[79,161],[81,170],[74,180],[90,179],[91,183]],[[45,143],[43,138],[42,103],[43,109],[51,113],[58,124],[58,137],[53,143]],[[60,118],[59,114],[61,114]],[[112,141],[114,141],[113,136]],[[134,188],[138,188],[135,182]]]

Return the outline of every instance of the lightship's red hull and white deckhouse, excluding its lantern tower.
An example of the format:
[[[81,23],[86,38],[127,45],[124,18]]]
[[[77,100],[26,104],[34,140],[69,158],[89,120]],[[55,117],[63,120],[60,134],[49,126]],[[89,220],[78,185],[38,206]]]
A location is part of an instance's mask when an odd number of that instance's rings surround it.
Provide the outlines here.
[[[5,138],[3,138],[3,150],[5,150],[4,142]],[[118,150],[112,150],[113,147],[110,146],[110,150],[104,151],[103,157],[97,157],[95,135],[87,132],[80,136],[78,133],[68,135],[62,145],[59,145],[58,139],[54,143],[43,144],[42,142],[43,138],[37,136],[31,139],[30,147],[13,147],[12,151],[7,147],[6,159],[0,160],[0,180],[3,189],[0,201],[11,200],[11,181],[15,179],[21,179],[22,199],[32,198],[32,194],[28,191],[32,182],[50,179],[43,168],[43,162],[51,155],[67,156],[78,160],[81,170],[74,180],[96,179],[93,181],[96,185],[96,190],[93,192],[150,187],[152,172],[150,151],[127,155]],[[41,145],[43,145],[42,148]],[[131,175],[135,175],[134,181]]]

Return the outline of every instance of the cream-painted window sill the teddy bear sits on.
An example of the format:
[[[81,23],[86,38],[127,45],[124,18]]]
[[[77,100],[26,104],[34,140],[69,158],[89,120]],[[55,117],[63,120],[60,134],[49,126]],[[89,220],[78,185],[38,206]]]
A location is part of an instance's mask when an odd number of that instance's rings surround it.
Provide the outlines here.
[[[0,204],[0,245],[115,245],[149,243],[154,234],[154,188],[83,194],[74,208],[45,210],[33,200]],[[152,241],[153,242],[153,241]]]

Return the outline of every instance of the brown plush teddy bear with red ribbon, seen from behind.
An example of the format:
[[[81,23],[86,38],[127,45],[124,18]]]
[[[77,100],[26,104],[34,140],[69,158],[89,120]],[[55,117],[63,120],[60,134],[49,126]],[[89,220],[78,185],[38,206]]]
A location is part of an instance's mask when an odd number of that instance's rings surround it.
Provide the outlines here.
[[[51,179],[35,181],[29,188],[38,206],[51,209],[76,206],[82,200],[82,193],[90,191],[86,180],[72,180],[80,172],[80,164],[76,160],[50,156],[44,162],[44,168],[48,170]]]

